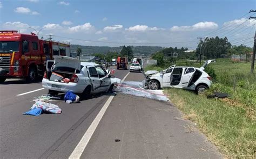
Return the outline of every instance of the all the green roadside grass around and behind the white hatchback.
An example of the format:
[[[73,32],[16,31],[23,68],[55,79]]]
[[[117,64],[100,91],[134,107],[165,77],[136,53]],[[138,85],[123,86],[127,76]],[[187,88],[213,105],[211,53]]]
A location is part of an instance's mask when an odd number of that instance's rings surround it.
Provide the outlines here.
[[[176,65],[201,66],[184,60],[177,61]],[[205,95],[180,89],[165,89],[165,93],[226,157],[252,157],[256,150],[256,75],[250,74],[251,63],[217,59],[208,67],[214,70],[216,78]],[[145,70],[166,68],[149,66]],[[206,95],[214,91],[226,92],[230,97],[207,99]]]

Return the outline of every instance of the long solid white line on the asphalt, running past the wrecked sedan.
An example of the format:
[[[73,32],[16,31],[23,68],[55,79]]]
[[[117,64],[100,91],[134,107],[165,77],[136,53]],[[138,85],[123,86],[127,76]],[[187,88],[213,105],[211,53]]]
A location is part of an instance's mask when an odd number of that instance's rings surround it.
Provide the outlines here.
[[[125,78],[130,74],[130,72],[122,79],[121,82],[124,82]],[[119,88],[120,85],[118,85],[117,88]],[[107,102],[103,105],[102,109],[99,111],[97,114],[96,118],[92,121],[91,125],[83,135],[82,139],[79,141],[77,144],[76,148],[73,150],[69,158],[75,159],[75,158],[80,158],[81,155],[83,154],[84,149],[86,148],[88,142],[90,141],[93,133],[95,132],[100,120],[102,120],[102,117],[104,113],[107,110],[107,107],[109,107],[111,101],[113,100],[114,96],[110,96],[109,99],[107,99]]]

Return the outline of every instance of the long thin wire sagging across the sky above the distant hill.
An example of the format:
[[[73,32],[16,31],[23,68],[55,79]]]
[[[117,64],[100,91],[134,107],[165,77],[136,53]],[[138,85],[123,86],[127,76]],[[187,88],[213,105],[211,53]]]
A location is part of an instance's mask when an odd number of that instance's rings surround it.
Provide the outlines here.
[[[81,40],[81,41],[90,41],[90,42],[100,42],[106,44],[137,44],[137,45],[152,45],[152,44],[180,44],[180,43],[188,43],[188,42],[197,42],[197,41],[179,41],[179,42],[159,42],[159,43],[136,43],[136,42],[114,42],[114,41],[97,41],[97,40],[86,40],[86,39],[77,39],[70,37],[62,37],[58,35],[52,35],[53,37],[65,38],[65,39],[73,39],[73,40]]]

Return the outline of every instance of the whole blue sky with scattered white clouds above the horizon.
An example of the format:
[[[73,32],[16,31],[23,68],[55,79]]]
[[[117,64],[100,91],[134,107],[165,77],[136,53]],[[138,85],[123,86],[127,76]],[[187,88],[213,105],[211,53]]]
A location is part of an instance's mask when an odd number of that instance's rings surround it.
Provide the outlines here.
[[[55,40],[80,45],[185,46],[193,49],[197,46],[196,37],[214,30],[220,30],[220,33],[212,36],[221,37],[227,33],[226,36],[231,42],[233,39],[235,45],[243,39],[245,41],[241,44],[252,45],[249,38],[253,37],[256,21],[247,20],[253,13],[245,15],[256,9],[254,0],[0,2],[1,30],[16,29],[29,33],[33,31],[29,27],[36,30],[45,27],[40,36],[46,38],[48,34],[53,34],[56,35],[53,37]],[[241,19],[242,16],[244,19]],[[117,44],[107,43],[110,41]],[[186,41],[194,42],[172,43]],[[166,44],[168,42],[170,44]]]

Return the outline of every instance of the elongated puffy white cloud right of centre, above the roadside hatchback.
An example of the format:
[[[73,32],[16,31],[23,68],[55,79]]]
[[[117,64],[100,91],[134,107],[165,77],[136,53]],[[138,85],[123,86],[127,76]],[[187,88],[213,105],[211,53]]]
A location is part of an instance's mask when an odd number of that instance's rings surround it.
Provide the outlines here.
[[[212,22],[212,21],[204,21],[199,22],[197,24],[191,25],[191,26],[173,26],[171,27],[171,31],[198,31],[198,30],[211,30],[214,28],[217,28],[218,24]]]

